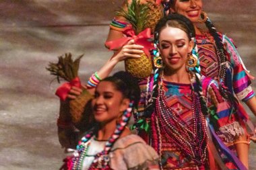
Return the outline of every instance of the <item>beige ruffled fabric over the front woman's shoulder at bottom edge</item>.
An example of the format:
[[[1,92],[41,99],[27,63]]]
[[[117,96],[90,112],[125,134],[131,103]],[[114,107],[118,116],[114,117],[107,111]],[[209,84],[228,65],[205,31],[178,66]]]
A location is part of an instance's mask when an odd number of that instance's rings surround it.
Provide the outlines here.
[[[117,140],[110,153],[113,169],[158,169],[158,154],[135,134]]]

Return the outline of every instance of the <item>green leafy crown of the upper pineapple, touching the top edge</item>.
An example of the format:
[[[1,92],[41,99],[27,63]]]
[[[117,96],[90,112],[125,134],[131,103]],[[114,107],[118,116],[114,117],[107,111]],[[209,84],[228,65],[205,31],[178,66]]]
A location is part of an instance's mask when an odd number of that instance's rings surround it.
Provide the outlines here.
[[[127,10],[121,8],[117,11],[117,15],[125,17],[127,22],[131,24],[136,34],[145,29],[146,21],[148,19],[148,10],[150,9],[148,3],[141,4],[139,0],[132,0],[129,5],[125,1]]]

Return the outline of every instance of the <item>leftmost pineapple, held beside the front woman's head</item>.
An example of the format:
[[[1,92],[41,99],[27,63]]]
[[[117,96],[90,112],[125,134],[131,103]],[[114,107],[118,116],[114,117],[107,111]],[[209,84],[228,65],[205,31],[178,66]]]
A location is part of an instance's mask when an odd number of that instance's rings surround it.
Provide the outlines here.
[[[59,83],[60,78],[70,82],[78,75],[79,62],[82,56],[78,56],[73,61],[71,53],[65,53],[63,56],[59,56],[58,63],[49,62],[49,67],[46,67],[46,70],[50,71],[51,75],[56,75]],[[69,113],[74,124],[81,120],[85,105],[90,99],[92,99],[92,95],[83,89],[81,95],[69,101]]]

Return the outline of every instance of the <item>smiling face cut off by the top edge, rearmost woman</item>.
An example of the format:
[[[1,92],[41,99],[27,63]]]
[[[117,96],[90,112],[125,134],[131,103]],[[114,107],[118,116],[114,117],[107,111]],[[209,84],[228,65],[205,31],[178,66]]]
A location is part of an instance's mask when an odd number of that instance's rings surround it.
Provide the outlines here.
[[[170,7],[172,13],[179,13],[196,23],[203,7],[202,0],[174,0],[174,5]]]

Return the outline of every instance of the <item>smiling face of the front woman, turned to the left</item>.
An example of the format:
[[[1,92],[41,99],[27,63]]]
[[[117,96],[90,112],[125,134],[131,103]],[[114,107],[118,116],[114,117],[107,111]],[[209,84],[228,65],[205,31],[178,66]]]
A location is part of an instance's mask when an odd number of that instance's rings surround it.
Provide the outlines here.
[[[117,121],[129,106],[129,99],[124,99],[121,91],[115,89],[110,81],[101,81],[96,87],[92,108],[96,122],[106,124]]]

